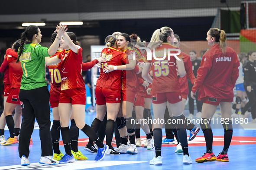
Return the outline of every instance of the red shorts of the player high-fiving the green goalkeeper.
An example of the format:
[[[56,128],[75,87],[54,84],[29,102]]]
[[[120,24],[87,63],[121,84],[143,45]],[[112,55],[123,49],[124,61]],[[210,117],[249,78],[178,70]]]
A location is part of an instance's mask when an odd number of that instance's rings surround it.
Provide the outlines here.
[[[86,104],[86,92],[83,88],[62,90],[59,103]]]

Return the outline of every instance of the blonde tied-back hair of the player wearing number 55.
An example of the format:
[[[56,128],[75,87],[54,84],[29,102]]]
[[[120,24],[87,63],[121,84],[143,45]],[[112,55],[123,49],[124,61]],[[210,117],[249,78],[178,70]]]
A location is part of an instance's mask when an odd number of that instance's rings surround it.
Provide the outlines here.
[[[154,31],[148,47],[151,49],[159,47],[159,45],[167,41],[167,38],[171,36],[172,33],[172,29],[166,26],[157,29]]]

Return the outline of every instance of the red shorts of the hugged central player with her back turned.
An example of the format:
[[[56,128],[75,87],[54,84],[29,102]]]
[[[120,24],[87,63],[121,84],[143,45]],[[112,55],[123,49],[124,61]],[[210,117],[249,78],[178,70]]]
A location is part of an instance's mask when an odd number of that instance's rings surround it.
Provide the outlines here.
[[[96,86],[95,88],[96,104],[103,105],[106,103],[120,103],[121,90],[114,90]]]

